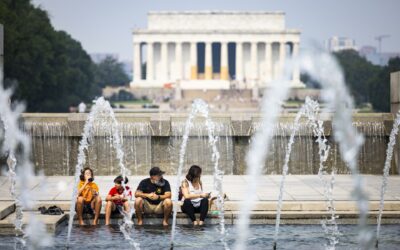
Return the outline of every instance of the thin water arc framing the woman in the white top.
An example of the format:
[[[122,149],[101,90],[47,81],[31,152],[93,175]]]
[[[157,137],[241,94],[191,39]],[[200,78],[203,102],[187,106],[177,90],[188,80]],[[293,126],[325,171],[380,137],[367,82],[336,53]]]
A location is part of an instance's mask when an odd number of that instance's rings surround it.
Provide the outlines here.
[[[178,173],[176,176],[176,190],[173,192],[173,204],[174,204],[174,212],[172,218],[172,229],[171,229],[171,249],[174,248],[174,240],[175,240],[175,231],[176,231],[176,215],[178,213],[178,194],[179,187],[181,185],[181,176],[183,165],[185,163],[185,154],[186,154],[186,146],[189,140],[190,129],[193,127],[193,119],[196,115],[202,116],[206,119],[206,128],[208,131],[208,143],[211,146],[212,150],[212,161],[214,163],[214,188],[217,190],[217,207],[219,209],[219,218],[220,218],[220,234],[221,241],[224,244],[225,249],[228,249],[228,246],[225,242],[225,221],[224,221],[224,199],[223,199],[223,189],[222,189],[222,180],[223,180],[223,171],[221,171],[218,167],[218,161],[220,158],[216,143],[218,141],[218,137],[214,136],[215,125],[212,120],[209,118],[208,114],[208,105],[203,100],[196,99],[193,101],[192,110],[189,113],[189,116],[185,123],[184,134],[182,138],[182,144],[179,151],[179,165],[178,165]]]

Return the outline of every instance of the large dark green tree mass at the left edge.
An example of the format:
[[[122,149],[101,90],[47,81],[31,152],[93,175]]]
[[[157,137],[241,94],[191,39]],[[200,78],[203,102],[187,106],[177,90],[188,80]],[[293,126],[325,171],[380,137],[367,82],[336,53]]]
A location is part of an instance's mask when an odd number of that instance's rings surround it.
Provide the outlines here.
[[[51,26],[46,11],[29,0],[0,0],[4,25],[5,85],[29,112],[67,111],[88,102],[99,88],[94,65],[81,44]]]

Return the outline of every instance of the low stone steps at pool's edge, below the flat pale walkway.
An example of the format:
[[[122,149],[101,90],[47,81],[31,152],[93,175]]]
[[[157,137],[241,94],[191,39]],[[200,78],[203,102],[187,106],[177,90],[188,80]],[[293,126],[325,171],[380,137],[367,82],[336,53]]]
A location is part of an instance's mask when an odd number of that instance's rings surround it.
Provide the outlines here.
[[[330,214],[325,209],[323,201],[284,201],[281,213],[282,224],[320,224],[324,218],[329,218]],[[40,206],[57,205],[65,211],[62,215],[42,215],[37,211]],[[238,201],[227,201],[225,203],[225,224],[236,224],[240,217],[240,205]],[[338,224],[357,224],[358,211],[353,201],[335,202]],[[14,235],[15,204],[13,202],[0,202],[0,235]],[[69,218],[70,201],[41,201],[33,208],[35,211],[24,211],[23,224],[25,225],[29,217],[34,214],[36,218],[46,225],[46,229],[51,234],[57,234],[59,230],[65,227]],[[370,211],[368,214],[368,223],[376,224],[379,209],[378,201],[370,202]],[[218,214],[213,213],[214,208],[209,212],[207,224],[218,224]],[[170,217],[172,218],[172,217]],[[90,225],[92,217],[85,215],[86,223]],[[135,220],[135,215],[132,216]],[[276,219],[276,201],[256,202],[254,210],[250,215],[251,224],[275,224]],[[111,223],[118,224],[122,221],[122,216],[112,215]],[[162,215],[145,215],[144,224],[161,225]],[[171,223],[170,219],[170,223]],[[75,218],[74,223],[77,224]],[[177,224],[190,224],[190,220],[182,212],[177,214]],[[382,214],[383,224],[400,223],[400,201],[385,201],[385,210]],[[104,224],[104,206],[100,214],[99,224]]]

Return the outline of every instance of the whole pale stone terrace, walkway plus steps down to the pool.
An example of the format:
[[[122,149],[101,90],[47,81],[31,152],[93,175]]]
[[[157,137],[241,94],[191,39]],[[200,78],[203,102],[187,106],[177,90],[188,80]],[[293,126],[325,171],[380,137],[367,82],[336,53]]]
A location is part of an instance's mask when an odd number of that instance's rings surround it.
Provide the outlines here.
[[[139,181],[147,176],[131,176],[129,184],[136,189]],[[174,189],[176,178],[174,176],[165,176],[170,181]],[[99,185],[100,195],[105,200],[109,189],[113,186],[114,176],[96,176],[95,182]],[[379,210],[381,176],[365,175],[364,189],[367,192],[369,203],[369,223],[376,223]],[[213,190],[213,176],[203,176],[203,185],[205,191]],[[257,201],[251,213],[250,223],[253,224],[274,224],[276,217],[277,199],[279,195],[279,184],[281,176],[261,176],[257,188]],[[249,176],[236,175],[224,177],[224,192],[228,196],[225,202],[225,223],[235,224],[240,214],[241,200],[247,195],[247,185],[250,182]],[[66,225],[69,216],[70,201],[74,185],[72,176],[48,176],[42,179],[36,177],[32,181],[31,190],[33,199],[37,200],[33,211],[24,213],[23,223],[25,224],[31,214],[35,214],[38,219],[46,224],[46,228],[51,233],[56,233],[58,229]],[[10,195],[10,183],[8,178],[0,176],[0,235],[13,235],[15,206]],[[336,176],[334,198],[336,215],[339,216],[338,222],[343,224],[357,223],[358,208],[352,200],[351,190],[353,182],[349,175]],[[314,175],[289,175],[286,178],[286,188],[284,193],[284,202],[282,206],[281,223],[282,224],[319,224],[322,218],[329,216],[326,210],[326,202],[323,195],[323,187],[318,176]],[[387,193],[385,196],[385,211],[383,213],[382,223],[400,224],[400,176],[390,176],[388,179]],[[37,211],[39,206],[57,205],[66,213],[63,215],[40,215]],[[100,215],[100,224],[104,223],[104,205]],[[179,207],[178,207],[179,208]],[[211,207],[207,223],[219,223],[218,215],[214,214]],[[114,218],[112,223],[117,223]],[[161,218],[148,217],[145,223],[160,224]],[[187,216],[178,213],[178,224],[190,223]]]

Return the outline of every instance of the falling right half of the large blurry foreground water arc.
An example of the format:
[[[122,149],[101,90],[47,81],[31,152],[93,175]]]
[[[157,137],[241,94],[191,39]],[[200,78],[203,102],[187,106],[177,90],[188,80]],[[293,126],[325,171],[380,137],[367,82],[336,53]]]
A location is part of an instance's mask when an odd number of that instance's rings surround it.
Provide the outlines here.
[[[364,139],[352,126],[353,100],[346,88],[343,72],[334,57],[324,51],[304,53],[297,62],[299,68],[322,86],[322,99],[334,110],[332,126],[338,142],[340,155],[349,167],[353,177],[352,196],[359,209],[359,247],[368,249],[373,235],[367,229],[368,197],[363,190],[357,157]]]

